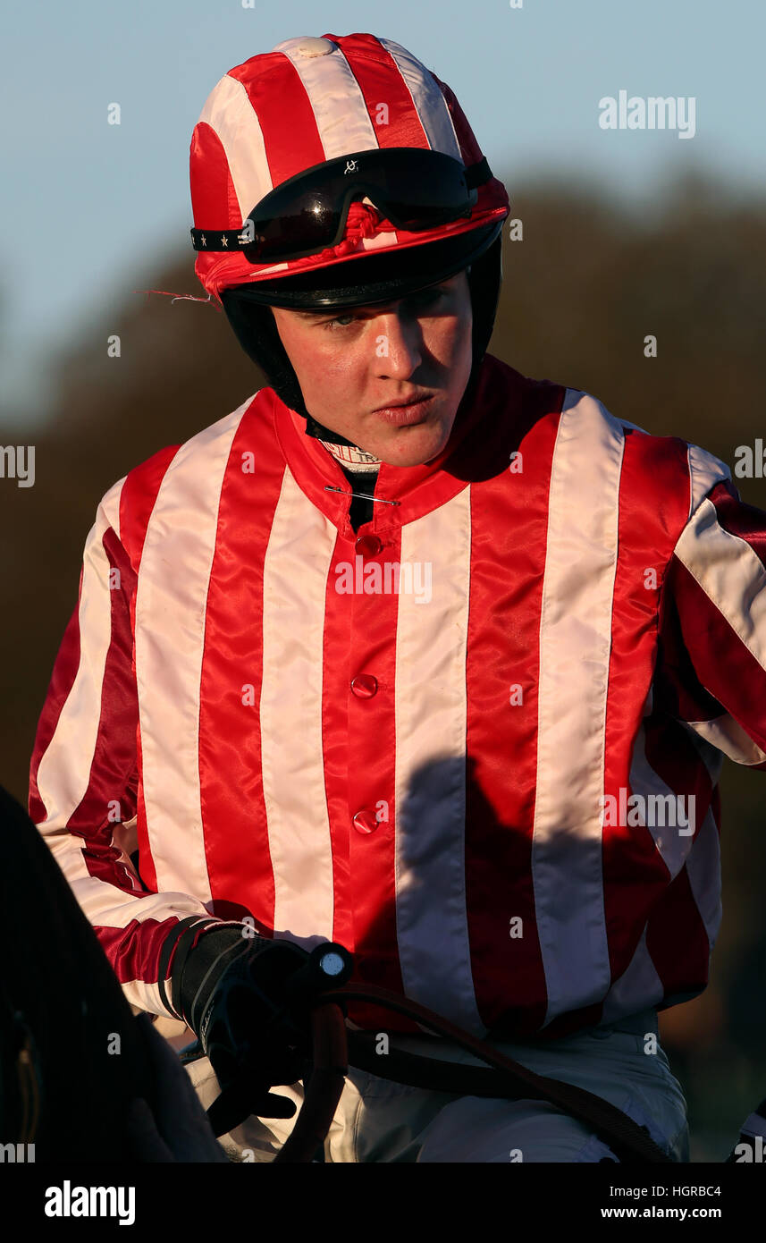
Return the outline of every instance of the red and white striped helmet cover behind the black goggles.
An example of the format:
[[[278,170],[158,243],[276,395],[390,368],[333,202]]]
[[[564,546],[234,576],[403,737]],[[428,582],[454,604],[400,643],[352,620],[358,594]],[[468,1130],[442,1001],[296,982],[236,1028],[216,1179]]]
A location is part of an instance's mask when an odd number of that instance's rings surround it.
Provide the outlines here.
[[[384,107],[385,106],[385,107]],[[400,44],[375,35],[287,39],[252,56],[214,87],[190,149],[196,229],[242,229],[255,206],[288,178],[351,152],[420,147],[483,159],[449,87]],[[509,214],[497,178],[478,186],[471,216],[408,232],[351,204],[345,236],[315,255],[258,265],[238,252],[197,254],[205,290],[304,273],[350,259],[401,251],[495,224]],[[494,234],[494,230],[493,230]]]

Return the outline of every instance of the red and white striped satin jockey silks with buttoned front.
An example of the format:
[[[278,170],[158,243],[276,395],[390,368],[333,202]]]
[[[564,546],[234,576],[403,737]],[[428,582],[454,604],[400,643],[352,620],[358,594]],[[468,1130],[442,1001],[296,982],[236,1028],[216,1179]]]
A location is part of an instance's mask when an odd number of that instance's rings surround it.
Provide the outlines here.
[[[340,941],[478,1035],[699,993],[723,756],[766,767],[766,515],[703,449],[492,355],[356,536],[303,426],[259,390],[119,480],[86,543],[30,812],[129,1001],[165,1013],[190,915]],[[689,828],[605,820],[634,796]]]

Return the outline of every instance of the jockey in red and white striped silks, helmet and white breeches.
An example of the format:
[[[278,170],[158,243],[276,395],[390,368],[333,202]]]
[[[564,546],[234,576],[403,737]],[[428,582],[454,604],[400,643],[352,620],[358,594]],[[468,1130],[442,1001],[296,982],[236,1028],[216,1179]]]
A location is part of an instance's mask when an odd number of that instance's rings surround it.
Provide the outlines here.
[[[657,1013],[708,982],[723,756],[766,767],[766,516],[487,353],[508,195],[399,44],[232,68],[190,172],[195,270],[269,383],[103,497],[30,814],[128,1001],[201,1037],[204,1104],[241,960],[278,992],[335,941],[688,1160]],[[302,1058],[258,1045],[227,1151],[273,1157]],[[323,1156],[615,1160],[544,1101],[359,1070]]]

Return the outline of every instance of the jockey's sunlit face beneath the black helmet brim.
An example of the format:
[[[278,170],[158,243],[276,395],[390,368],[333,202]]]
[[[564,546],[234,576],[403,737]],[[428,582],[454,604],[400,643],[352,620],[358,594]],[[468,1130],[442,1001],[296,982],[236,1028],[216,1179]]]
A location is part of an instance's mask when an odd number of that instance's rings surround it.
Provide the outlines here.
[[[466,271],[382,306],[272,311],[314,419],[392,466],[442,451],[471,375]],[[379,413],[386,401],[431,394],[408,425]]]

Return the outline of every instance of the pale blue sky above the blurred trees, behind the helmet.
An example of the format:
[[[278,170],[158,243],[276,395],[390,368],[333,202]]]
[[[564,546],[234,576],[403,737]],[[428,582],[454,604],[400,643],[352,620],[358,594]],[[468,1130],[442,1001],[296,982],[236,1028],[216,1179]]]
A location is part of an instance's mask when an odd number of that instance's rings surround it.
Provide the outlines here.
[[[25,0],[2,25],[0,426],[43,420],[56,355],[83,333],[106,348],[135,290],[184,255],[192,270],[202,104],[295,35],[407,47],[453,88],[511,209],[514,183],[540,175],[639,209],[688,168],[766,193],[764,0]],[[694,113],[685,103],[677,131],[603,128],[600,101],[621,91],[694,99]]]

